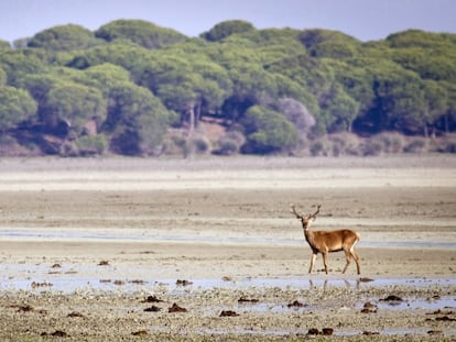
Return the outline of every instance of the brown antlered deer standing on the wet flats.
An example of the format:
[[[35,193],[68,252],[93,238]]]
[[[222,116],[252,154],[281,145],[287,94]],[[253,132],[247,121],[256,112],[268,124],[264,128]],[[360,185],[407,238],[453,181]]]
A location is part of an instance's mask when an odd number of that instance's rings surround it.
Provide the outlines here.
[[[327,257],[328,253],[332,252],[345,252],[345,257],[347,264],[344,267],[343,274],[347,271],[348,265],[351,262],[351,258],[356,262],[356,267],[358,274],[361,274],[361,267],[359,265],[359,257],[355,252],[355,245],[360,239],[360,234],[349,230],[349,229],[340,229],[335,231],[312,231],[310,229],[311,222],[316,220],[316,217],[319,212],[322,205],[317,206],[317,210],[314,213],[310,213],[304,216],[303,213],[298,213],[295,209],[295,206],[291,206],[291,212],[296,216],[297,219],[301,220],[304,229],[304,236],[307,241],[308,245],[312,249],[312,257],[311,257],[311,266],[308,268],[308,274],[312,273],[312,267],[314,266],[314,262],[318,255],[322,253],[323,255],[323,264],[325,265],[325,273],[328,274],[328,264]]]

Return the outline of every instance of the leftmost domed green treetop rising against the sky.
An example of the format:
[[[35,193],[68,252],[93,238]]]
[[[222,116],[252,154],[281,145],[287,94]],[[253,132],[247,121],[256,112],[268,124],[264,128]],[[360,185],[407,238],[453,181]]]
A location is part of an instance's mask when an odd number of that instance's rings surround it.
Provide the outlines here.
[[[28,45],[50,51],[72,51],[84,49],[94,44],[96,44],[96,40],[89,30],[67,24],[36,33]]]

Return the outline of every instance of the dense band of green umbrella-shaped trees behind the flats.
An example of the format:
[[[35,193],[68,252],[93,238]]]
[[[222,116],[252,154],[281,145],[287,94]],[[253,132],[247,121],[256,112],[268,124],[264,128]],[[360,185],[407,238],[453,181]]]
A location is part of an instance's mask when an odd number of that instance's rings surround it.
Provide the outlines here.
[[[0,153],[293,153],[326,134],[456,130],[456,35],[141,20],[0,41]],[[11,152],[14,151],[14,152]]]

